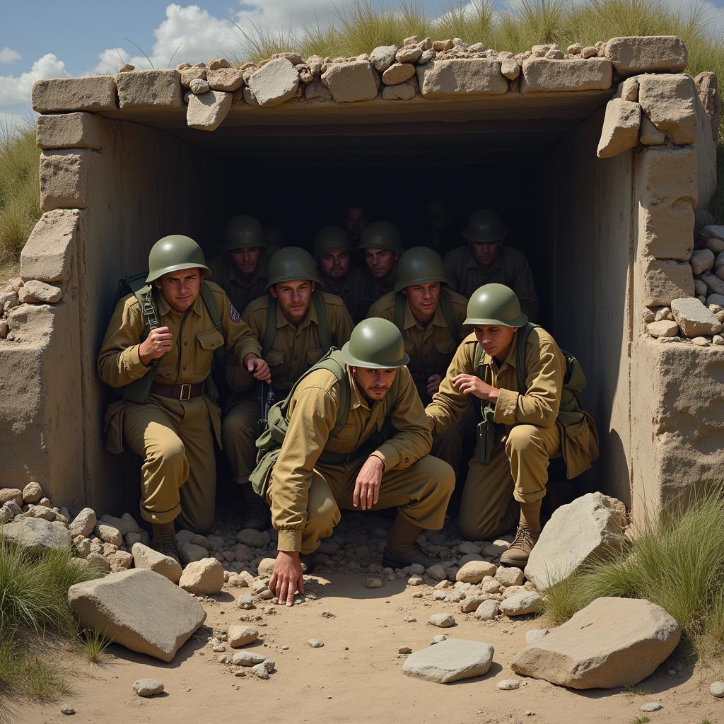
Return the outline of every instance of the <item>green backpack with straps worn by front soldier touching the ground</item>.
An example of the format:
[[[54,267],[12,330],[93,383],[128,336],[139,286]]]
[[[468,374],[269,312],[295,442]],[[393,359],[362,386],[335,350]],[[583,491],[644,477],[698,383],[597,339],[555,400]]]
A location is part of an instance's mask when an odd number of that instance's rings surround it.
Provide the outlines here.
[[[251,471],[249,481],[256,492],[256,494],[264,497],[266,490],[269,488],[269,481],[271,480],[271,472],[274,469],[274,463],[279,458],[279,452],[282,450],[282,443],[285,441],[287,435],[287,429],[289,429],[289,419],[287,418],[287,412],[289,411],[289,405],[292,400],[298,385],[313,371],[318,369],[326,369],[332,372],[337,377],[337,382],[340,384],[340,405],[337,408],[337,419],[334,421],[334,426],[329,431],[329,437],[335,437],[340,430],[347,424],[347,418],[350,413],[350,383],[347,376],[347,369],[344,361],[342,361],[342,353],[337,348],[330,348],[324,357],[319,360],[316,364],[311,366],[300,378],[292,385],[292,389],[289,391],[287,397],[281,402],[275,403],[269,409],[269,415],[266,418],[266,428],[264,432],[256,440],[256,468]],[[397,384],[398,377],[395,376],[395,382],[393,382],[390,390],[387,391],[387,395],[384,397],[384,403],[386,405],[387,414],[385,416],[385,422],[382,426],[382,431],[372,435],[366,440],[358,450],[355,450],[348,455],[341,452],[327,452],[323,450],[319,455],[319,461],[321,463],[328,463],[330,465],[342,465],[348,463],[349,460],[361,457],[366,450],[369,452],[379,447],[382,439],[387,437],[389,432],[388,421],[390,417],[390,411],[392,410],[392,402],[397,396]]]

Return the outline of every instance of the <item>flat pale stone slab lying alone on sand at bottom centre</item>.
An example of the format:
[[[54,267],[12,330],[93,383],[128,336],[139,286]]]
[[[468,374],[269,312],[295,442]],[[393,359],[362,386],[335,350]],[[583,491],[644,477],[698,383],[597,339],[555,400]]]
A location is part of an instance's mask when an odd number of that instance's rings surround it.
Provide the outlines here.
[[[452,683],[482,676],[490,669],[494,650],[483,641],[445,639],[410,654],[405,659],[403,672],[434,683]]]

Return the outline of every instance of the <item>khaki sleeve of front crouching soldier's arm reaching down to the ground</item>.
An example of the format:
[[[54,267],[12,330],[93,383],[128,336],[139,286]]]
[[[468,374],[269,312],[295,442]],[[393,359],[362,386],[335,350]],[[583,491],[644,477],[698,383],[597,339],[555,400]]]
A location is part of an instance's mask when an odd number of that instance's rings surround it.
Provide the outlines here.
[[[292,397],[289,428],[271,473],[271,521],[279,531],[280,551],[301,550],[313,468],[337,420],[339,388],[330,391],[313,380],[324,372],[311,373]]]

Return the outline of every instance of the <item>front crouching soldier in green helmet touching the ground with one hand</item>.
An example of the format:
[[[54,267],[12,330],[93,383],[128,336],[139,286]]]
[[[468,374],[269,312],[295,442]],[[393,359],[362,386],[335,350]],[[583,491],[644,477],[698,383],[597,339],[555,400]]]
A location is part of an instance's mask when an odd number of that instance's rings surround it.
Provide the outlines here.
[[[427,454],[432,437],[395,325],[362,321],[332,357],[337,372],[313,369],[292,391],[287,432],[264,491],[279,531],[269,588],[287,605],[303,592],[302,565],[311,571],[311,554],[332,534],[340,508],[397,507],[384,565],[432,565],[416,540],[422,530],[442,527],[455,484],[450,466]],[[389,439],[375,434],[386,421],[394,428]]]

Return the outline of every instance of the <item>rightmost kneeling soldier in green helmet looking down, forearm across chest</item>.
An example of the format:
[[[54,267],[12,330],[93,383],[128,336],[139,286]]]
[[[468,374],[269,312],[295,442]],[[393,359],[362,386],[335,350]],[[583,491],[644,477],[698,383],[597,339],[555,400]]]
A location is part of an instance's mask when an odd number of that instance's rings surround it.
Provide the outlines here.
[[[548,461],[562,452],[557,416],[566,369],[555,340],[540,327],[530,330],[518,356],[518,329],[527,321],[510,288],[488,284],[476,290],[466,319],[473,334],[458,347],[426,408],[430,429],[438,434],[460,420],[473,398],[481,400],[483,421],[460,502],[460,533],[490,539],[508,531],[519,515],[515,540],[500,563],[520,568],[540,534]]]

